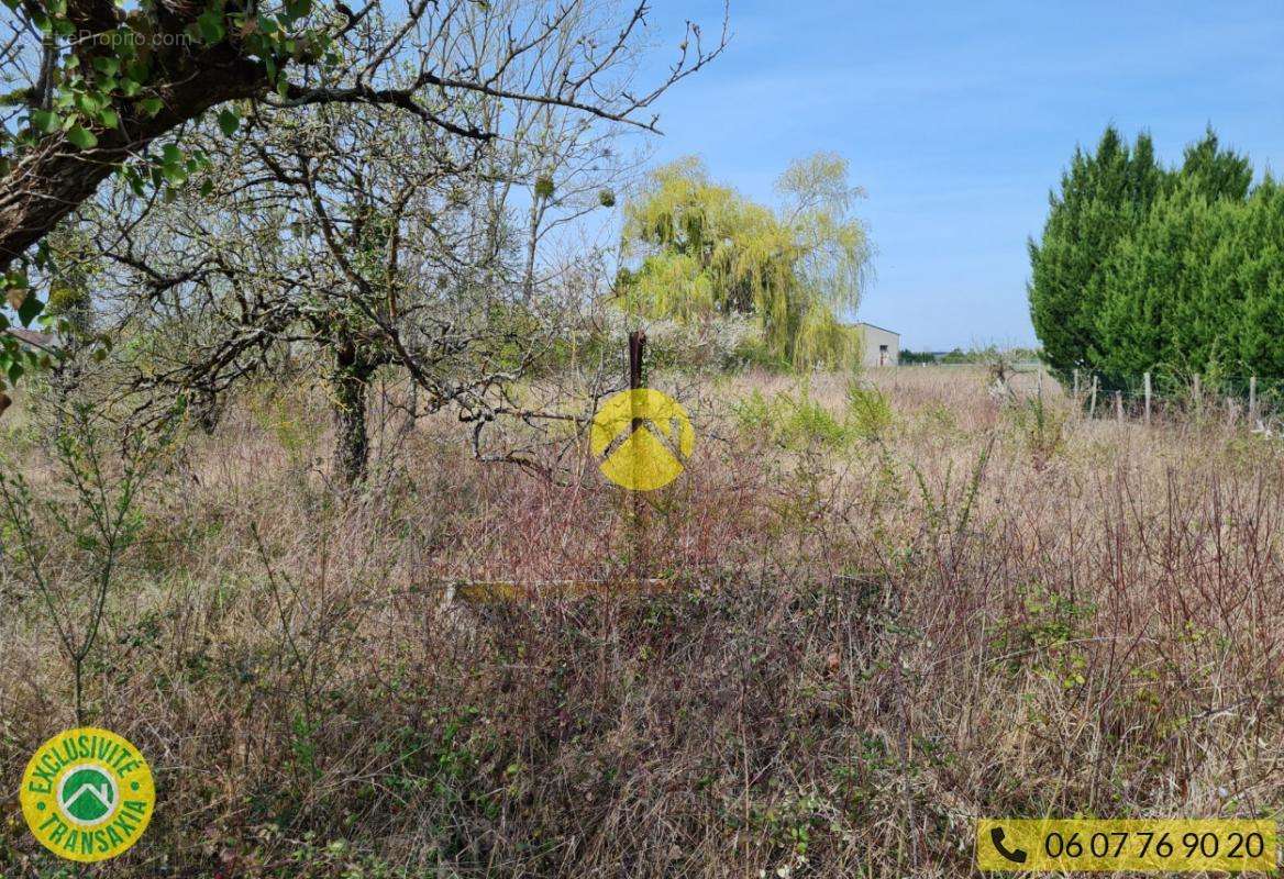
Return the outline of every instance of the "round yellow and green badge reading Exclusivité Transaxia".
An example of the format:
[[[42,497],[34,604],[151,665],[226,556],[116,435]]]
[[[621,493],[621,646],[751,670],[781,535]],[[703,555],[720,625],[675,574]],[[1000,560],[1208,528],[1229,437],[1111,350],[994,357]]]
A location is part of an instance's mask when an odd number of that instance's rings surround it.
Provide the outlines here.
[[[116,733],[82,726],[45,742],[22,775],[22,815],[72,861],[105,861],[139,841],[157,802],[152,769]]]

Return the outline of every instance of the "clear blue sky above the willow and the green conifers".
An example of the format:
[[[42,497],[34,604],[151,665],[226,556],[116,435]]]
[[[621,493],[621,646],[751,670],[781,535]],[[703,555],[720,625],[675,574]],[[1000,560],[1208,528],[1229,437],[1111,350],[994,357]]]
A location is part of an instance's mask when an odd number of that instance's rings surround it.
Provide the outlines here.
[[[718,0],[656,0],[655,62]],[[1284,172],[1284,0],[732,0],[727,54],[665,95],[656,160],[700,154],[761,200],[833,150],[877,248],[859,317],[914,349],[1032,344],[1026,239],[1076,144],[1113,122],[1165,162],[1212,123]]]

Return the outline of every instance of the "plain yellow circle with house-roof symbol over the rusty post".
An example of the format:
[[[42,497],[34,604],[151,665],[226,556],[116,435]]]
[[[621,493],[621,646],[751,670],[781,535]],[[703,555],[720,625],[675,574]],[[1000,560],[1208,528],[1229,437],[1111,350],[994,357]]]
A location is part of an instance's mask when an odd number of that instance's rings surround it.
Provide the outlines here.
[[[650,388],[611,397],[593,416],[589,448],[602,475],[634,491],[652,491],[678,479],[696,447],[687,411]]]

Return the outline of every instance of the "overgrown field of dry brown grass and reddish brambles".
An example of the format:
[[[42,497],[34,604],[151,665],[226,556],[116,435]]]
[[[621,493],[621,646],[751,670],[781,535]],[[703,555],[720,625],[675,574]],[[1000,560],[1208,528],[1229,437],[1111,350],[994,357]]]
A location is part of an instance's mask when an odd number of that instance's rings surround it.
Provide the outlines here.
[[[696,454],[641,515],[392,414],[342,499],[303,390],[181,438],[85,675],[157,814],[85,875],[960,876],[976,816],[1279,817],[1284,440],[981,370],[681,388]],[[32,423],[0,450],[39,490]],[[58,875],[15,793],[73,688],[3,565],[0,875]]]

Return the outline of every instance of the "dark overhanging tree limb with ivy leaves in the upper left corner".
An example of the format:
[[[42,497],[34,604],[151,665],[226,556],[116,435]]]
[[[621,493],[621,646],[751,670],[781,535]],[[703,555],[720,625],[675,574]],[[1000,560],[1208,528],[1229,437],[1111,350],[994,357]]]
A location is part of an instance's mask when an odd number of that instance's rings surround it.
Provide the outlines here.
[[[385,107],[430,137],[484,149],[521,107],[654,128],[645,108],[723,46],[702,46],[690,26],[669,73],[634,90],[614,72],[643,38],[646,3],[411,0],[386,21],[380,12],[377,0],[360,10],[339,0],[169,0],[132,12],[108,0],[6,0],[0,271],[9,269],[3,286],[22,322],[40,311],[28,269],[44,268],[48,254],[17,269],[14,260],[26,263],[118,168],[136,192],[186,177],[202,157],[154,144],[168,135],[181,144],[211,108]],[[568,40],[571,32],[587,38]],[[235,132],[240,112],[225,107],[218,123]],[[18,357],[0,336],[0,359]]]

